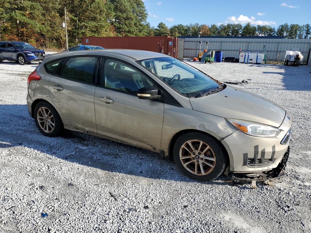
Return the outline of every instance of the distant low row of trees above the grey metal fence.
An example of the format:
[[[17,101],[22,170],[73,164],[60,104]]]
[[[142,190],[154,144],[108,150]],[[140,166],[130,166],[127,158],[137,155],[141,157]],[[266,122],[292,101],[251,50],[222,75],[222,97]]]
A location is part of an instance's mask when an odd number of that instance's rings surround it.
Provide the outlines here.
[[[206,25],[198,23],[189,25],[173,25],[170,28],[165,23],[160,22],[157,27],[151,27],[150,35],[160,36],[283,36],[286,33],[286,39],[311,39],[310,24],[282,24],[278,28],[270,25],[251,25],[241,24],[216,24]]]

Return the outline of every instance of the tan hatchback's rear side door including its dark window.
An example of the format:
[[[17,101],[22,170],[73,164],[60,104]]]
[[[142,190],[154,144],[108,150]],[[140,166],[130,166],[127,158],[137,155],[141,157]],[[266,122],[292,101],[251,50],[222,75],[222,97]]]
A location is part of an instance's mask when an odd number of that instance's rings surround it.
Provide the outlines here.
[[[69,57],[49,79],[49,94],[58,111],[74,128],[96,132],[94,92],[98,58]]]

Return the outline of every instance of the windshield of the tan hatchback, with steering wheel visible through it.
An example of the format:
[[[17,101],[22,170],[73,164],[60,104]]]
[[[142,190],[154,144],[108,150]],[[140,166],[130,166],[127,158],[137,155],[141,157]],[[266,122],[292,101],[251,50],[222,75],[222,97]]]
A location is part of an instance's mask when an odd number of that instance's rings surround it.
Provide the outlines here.
[[[155,57],[137,62],[188,98],[198,97],[219,86],[201,71],[173,57]]]

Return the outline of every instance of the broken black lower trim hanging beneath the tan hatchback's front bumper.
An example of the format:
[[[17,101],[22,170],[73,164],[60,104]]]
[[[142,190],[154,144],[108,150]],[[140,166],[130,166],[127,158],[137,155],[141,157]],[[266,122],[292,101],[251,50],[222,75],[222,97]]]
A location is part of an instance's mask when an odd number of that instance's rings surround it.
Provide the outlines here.
[[[284,154],[279,165],[270,171],[234,174],[232,175],[231,180],[245,183],[245,182],[252,182],[252,181],[268,181],[268,180],[279,179],[285,176],[285,166],[288,161],[289,153],[290,153],[290,147],[287,148],[287,151]]]

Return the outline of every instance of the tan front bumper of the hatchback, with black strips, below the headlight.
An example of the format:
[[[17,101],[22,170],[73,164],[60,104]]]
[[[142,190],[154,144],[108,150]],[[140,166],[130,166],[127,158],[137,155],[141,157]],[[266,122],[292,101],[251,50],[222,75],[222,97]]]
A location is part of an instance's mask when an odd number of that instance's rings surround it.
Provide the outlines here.
[[[288,142],[281,144],[291,127],[291,116],[286,113],[279,129],[281,133],[273,138],[260,138],[236,131],[224,141],[232,153],[230,171],[234,173],[253,173],[269,171],[278,166],[288,149]]]

